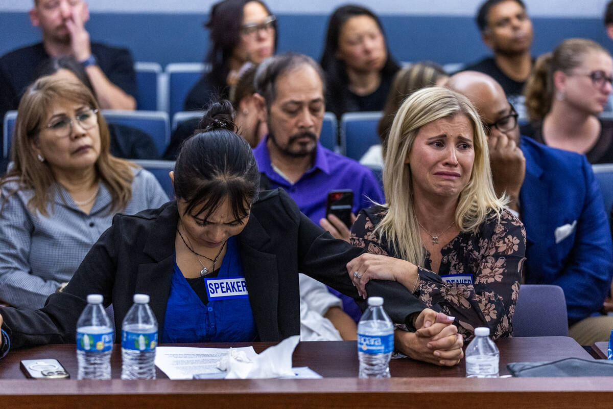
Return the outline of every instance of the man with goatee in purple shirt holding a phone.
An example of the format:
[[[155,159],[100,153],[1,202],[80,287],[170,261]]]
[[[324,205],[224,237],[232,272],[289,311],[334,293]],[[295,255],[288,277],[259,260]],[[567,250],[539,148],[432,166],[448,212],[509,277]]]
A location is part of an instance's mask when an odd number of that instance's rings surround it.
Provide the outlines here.
[[[314,223],[349,240],[349,229],[338,218],[326,219],[328,193],[352,189],[354,213],[370,207],[371,201],[383,203],[384,197],[370,169],[319,144],[326,111],[323,78],[319,65],[305,55],[277,55],[262,62],[256,72],[256,99],[268,135],[253,154],[262,185],[285,189]],[[341,299],[345,312],[359,320],[355,302]]]

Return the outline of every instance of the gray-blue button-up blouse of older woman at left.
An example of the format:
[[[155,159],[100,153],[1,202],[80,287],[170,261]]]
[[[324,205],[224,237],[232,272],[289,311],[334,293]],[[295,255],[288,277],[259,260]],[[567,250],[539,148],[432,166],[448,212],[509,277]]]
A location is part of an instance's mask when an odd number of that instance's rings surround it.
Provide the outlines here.
[[[17,182],[2,186],[2,200]],[[110,227],[115,213],[107,186],[100,188],[89,214],[56,185],[49,216],[28,209],[31,189],[12,194],[0,215],[0,300],[13,307],[40,308],[47,296],[69,281],[89,248]],[[123,210],[134,214],[160,207],[168,197],[158,180],[145,169],[134,169],[132,199]],[[53,211],[51,211],[53,208]]]

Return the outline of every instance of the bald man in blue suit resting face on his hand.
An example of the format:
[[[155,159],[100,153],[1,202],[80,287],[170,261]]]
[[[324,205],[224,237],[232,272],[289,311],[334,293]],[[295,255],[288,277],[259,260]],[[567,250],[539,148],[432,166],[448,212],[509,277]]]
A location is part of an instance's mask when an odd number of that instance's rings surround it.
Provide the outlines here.
[[[601,315],[611,286],[613,245],[604,203],[584,155],[520,137],[517,113],[500,84],[481,72],[453,75],[488,135],[494,188],[524,222],[524,280],[562,287],[569,335],[581,345],[609,339],[613,316]]]

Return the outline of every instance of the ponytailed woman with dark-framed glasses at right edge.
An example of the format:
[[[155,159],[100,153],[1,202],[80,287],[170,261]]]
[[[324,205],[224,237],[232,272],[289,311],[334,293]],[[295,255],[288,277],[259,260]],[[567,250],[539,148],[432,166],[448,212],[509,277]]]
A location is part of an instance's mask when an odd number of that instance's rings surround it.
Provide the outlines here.
[[[568,39],[536,61],[525,88],[530,124],[522,134],[550,147],[613,162],[613,120],[598,118],[613,84],[613,60],[600,44]]]

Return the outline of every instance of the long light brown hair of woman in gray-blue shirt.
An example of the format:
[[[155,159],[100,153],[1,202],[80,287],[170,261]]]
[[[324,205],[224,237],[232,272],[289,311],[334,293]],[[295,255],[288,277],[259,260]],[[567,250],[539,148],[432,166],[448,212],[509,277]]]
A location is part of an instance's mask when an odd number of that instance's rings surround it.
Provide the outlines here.
[[[53,205],[53,192],[50,191],[56,182],[53,172],[47,162],[40,162],[32,149],[32,142],[39,137],[42,127],[53,104],[58,101],[79,102],[91,109],[99,109],[91,91],[77,80],[55,78],[51,75],[40,77],[21,97],[15,121],[11,160],[13,167],[0,180],[0,186],[9,182],[17,182],[18,187],[4,197],[2,207],[8,197],[19,190],[32,189],[34,196],[29,200],[30,210],[38,210],[48,216],[47,205]],[[97,177],[105,183],[111,194],[113,206],[111,212],[126,208],[132,197],[132,180],[134,174],[131,162],[115,158],[110,154],[110,134],[107,123],[100,111],[97,112],[100,131],[101,150],[96,163]]]

